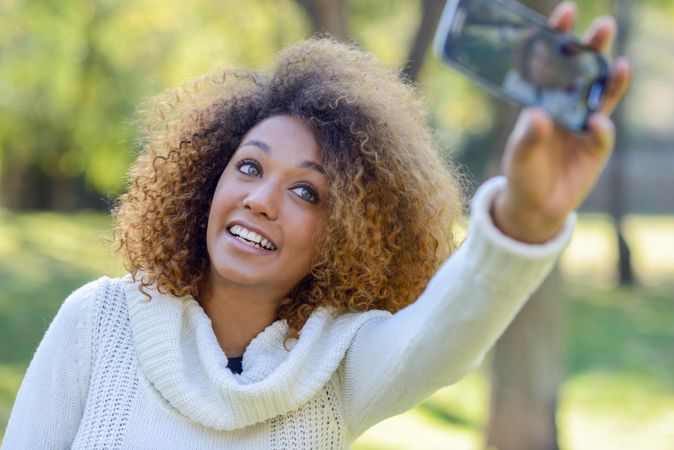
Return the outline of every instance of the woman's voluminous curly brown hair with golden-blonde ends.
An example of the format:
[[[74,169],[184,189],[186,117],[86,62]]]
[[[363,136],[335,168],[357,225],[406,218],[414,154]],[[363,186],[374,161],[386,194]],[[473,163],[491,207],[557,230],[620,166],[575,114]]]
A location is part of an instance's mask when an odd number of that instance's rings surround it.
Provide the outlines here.
[[[329,191],[311,273],[278,309],[287,338],[319,306],[403,308],[458,245],[459,177],[433,144],[425,105],[397,71],[354,46],[313,38],[282,51],[270,71],[199,78],[145,113],[141,152],[113,210],[113,240],[141,290],[198,301],[218,179],[245,133],[274,115],[313,131]]]

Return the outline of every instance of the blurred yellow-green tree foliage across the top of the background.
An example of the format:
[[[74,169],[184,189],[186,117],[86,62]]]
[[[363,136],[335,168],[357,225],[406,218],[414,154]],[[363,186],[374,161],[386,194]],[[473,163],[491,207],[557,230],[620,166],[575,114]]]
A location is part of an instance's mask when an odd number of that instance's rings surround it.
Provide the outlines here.
[[[614,0],[580,0],[582,30]],[[402,67],[421,0],[350,3],[354,41]],[[635,6],[630,147],[671,144],[674,7]],[[261,68],[308,36],[292,0],[5,0],[0,4],[0,204],[105,209],[124,188],[141,99],[221,66]],[[640,70],[640,67],[648,70]],[[420,74],[441,147],[479,172],[488,152],[463,154],[492,122],[486,94],[429,58]],[[482,161],[482,164],[484,161]],[[665,199],[666,200],[666,199]],[[656,204],[655,208],[658,207]]]

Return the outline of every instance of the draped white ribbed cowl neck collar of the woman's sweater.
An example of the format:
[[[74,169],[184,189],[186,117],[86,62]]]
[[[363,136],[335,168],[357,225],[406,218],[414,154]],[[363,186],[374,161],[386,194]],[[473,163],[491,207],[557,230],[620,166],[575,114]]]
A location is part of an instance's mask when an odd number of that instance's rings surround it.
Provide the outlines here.
[[[297,340],[283,340],[285,320],[248,344],[233,374],[211,321],[192,297],[176,298],[125,277],[131,331],[142,376],[162,401],[208,428],[235,430],[283,415],[310,400],[333,375],[358,327],[386,311],[337,316],[319,307]]]

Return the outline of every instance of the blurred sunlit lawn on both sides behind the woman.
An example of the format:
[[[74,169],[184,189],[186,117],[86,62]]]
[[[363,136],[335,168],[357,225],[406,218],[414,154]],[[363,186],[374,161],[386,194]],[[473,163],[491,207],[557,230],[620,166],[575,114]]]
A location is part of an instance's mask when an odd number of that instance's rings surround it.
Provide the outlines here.
[[[0,436],[63,299],[89,280],[122,273],[101,239],[109,227],[97,213],[0,210]],[[674,217],[635,216],[624,227],[639,287],[615,287],[615,236],[604,216],[581,217],[562,259],[570,316],[558,412],[565,450],[665,450],[674,442]],[[371,428],[354,450],[482,448],[485,372]]]

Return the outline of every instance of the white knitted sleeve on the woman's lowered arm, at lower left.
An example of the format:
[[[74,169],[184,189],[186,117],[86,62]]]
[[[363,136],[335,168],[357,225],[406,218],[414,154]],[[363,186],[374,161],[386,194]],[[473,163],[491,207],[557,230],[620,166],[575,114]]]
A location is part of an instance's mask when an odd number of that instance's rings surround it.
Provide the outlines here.
[[[89,386],[93,304],[105,280],[70,294],[49,325],[14,402],[4,450],[70,448]]]

